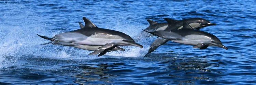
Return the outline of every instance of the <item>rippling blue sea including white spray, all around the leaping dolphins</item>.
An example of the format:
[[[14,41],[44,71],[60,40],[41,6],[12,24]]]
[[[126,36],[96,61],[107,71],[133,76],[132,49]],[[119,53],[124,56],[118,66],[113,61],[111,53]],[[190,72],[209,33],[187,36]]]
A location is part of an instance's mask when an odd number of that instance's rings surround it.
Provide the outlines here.
[[[0,84],[256,84],[255,0],[1,0]],[[103,56],[73,47],[40,45],[79,29],[82,17],[97,27],[139,38]],[[228,50],[204,50],[172,41],[143,57],[156,38],[138,37],[147,19],[200,17],[200,29]]]

